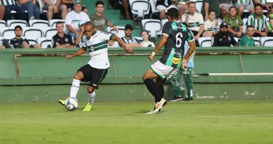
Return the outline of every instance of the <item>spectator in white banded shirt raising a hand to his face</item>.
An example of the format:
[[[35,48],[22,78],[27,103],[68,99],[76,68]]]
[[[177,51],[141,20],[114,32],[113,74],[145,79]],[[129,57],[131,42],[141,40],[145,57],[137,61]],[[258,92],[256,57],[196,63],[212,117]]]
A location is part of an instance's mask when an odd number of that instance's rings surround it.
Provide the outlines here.
[[[189,11],[182,16],[182,22],[186,22],[197,41],[204,32],[204,19],[202,14],[196,12],[195,2],[188,3]]]

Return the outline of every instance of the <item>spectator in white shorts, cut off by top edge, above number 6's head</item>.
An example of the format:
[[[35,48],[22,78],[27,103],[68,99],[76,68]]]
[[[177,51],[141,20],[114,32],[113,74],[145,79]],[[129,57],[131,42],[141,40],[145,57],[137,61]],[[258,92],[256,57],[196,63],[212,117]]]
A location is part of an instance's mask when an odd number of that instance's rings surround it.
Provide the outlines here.
[[[167,9],[175,7],[171,0],[156,0],[156,10],[160,12],[160,20],[165,19]],[[175,7],[176,8],[176,7]]]

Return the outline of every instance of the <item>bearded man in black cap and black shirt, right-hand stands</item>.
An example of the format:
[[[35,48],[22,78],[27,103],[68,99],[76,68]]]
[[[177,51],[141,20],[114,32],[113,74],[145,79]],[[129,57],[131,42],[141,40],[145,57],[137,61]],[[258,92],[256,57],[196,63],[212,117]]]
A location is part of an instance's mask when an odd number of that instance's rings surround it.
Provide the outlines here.
[[[238,46],[238,43],[233,38],[232,34],[228,32],[228,24],[223,22],[220,25],[220,31],[211,38],[212,46]]]

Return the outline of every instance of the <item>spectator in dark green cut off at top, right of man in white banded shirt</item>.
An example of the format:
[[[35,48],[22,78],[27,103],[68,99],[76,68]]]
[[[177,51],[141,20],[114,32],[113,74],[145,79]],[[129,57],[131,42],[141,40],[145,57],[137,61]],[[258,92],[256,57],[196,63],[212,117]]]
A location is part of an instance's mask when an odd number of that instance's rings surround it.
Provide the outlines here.
[[[208,19],[210,11],[215,11],[216,18],[220,17],[220,5],[218,0],[203,0],[201,13],[205,20]]]

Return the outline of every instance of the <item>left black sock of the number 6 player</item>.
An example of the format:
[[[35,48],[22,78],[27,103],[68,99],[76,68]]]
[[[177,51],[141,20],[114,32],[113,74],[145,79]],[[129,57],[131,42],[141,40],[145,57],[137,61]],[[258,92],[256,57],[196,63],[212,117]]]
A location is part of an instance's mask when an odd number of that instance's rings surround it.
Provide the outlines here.
[[[156,86],[156,83],[152,79],[145,79],[144,83],[147,87],[147,89],[151,92],[151,94],[155,98],[155,102],[159,102],[161,100],[161,94],[158,91],[158,88]]]

